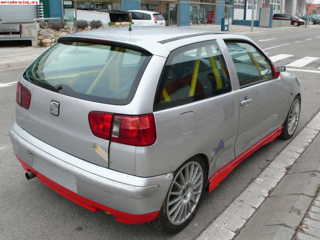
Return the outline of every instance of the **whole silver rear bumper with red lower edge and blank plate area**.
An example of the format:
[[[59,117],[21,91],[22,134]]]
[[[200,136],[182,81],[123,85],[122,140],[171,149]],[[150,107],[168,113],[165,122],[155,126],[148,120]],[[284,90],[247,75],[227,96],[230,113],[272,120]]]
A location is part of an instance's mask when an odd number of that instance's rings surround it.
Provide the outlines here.
[[[172,182],[173,173],[141,178],[91,164],[33,137],[17,124],[10,138],[26,171],[73,202],[93,212],[110,212],[124,223],[155,220]]]

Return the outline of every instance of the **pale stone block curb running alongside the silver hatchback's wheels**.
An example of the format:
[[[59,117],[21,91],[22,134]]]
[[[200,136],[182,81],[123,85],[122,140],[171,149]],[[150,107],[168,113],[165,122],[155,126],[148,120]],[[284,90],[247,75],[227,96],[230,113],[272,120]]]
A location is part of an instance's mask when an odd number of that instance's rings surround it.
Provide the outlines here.
[[[280,152],[266,169],[212,222],[196,240],[231,240],[237,236],[248,220],[269,197],[292,165],[315,139],[320,131],[320,112]],[[301,195],[305,197],[304,195]],[[307,196],[306,196],[307,197]],[[311,200],[312,201],[312,200]],[[311,203],[310,201],[310,203]],[[308,204],[308,207],[310,205]],[[307,208],[308,208],[307,207]],[[298,214],[297,214],[298,215]],[[304,215],[304,214],[303,214]],[[302,217],[301,217],[302,219]],[[300,221],[301,221],[300,219]],[[299,222],[300,222],[299,221]],[[278,228],[285,228],[281,225]],[[295,230],[290,231],[291,237]],[[277,230],[280,232],[280,230]],[[290,239],[291,239],[290,237]],[[257,237],[256,239],[259,239]],[[271,238],[270,238],[271,239]],[[273,238],[272,238],[273,239]],[[278,238],[275,238],[278,239]],[[284,239],[283,237],[279,239]]]

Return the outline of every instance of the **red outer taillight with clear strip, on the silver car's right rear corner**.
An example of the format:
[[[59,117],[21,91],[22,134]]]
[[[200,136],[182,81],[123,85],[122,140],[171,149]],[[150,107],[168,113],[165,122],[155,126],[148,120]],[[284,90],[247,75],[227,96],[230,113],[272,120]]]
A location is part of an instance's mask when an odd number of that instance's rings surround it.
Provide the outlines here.
[[[116,115],[111,141],[139,147],[154,144],[156,126],[153,114],[144,116]]]

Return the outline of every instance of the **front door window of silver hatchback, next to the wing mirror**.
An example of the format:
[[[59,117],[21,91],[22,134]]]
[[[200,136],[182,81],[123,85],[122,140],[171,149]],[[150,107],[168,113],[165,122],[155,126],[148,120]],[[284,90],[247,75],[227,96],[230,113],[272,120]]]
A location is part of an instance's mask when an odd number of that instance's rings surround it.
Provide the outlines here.
[[[240,87],[271,78],[269,61],[251,44],[226,41],[235,64]]]

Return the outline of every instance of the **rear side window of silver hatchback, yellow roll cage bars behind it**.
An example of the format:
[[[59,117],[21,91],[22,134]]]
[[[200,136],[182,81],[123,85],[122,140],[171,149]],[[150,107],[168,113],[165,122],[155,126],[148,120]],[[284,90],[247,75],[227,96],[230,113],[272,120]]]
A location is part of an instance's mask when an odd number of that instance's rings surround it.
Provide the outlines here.
[[[216,42],[192,44],[170,53],[154,109],[178,106],[230,91],[228,69]]]

